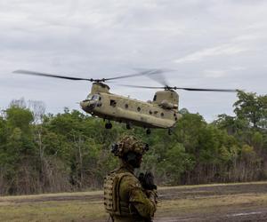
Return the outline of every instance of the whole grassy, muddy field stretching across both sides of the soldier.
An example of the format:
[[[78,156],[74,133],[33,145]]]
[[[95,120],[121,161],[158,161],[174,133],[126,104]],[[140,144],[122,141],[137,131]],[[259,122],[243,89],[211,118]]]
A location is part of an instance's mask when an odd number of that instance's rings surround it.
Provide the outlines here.
[[[264,219],[265,213],[267,215],[264,210],[267,210],[266,182],[160,187],[158,193],[156,221],[184,218],[213,221],[212,218],[223,215],[227,216],[227,221],[235,221],[236,218],[231,220],[231,215],[247,215],[244,221],[257,221],[251,217],[259,218],[261,213]],[[93,191],[3,196],[0,197],[0,221],[107,221],[101,194],[101,191]],[[222,220],[225,221],[225,217]]]

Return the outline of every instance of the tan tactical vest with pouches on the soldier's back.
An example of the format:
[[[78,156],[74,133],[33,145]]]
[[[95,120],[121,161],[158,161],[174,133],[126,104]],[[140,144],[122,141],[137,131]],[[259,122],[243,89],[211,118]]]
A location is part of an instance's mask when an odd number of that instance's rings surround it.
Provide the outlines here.
[[[111,216],[133,216],[136,212],[131,212],[129,202],[123,202],[119,198],[119,185],[125,176],[133,177],[129,172],[111,172],[104,179],[104,205],[106,211]]]

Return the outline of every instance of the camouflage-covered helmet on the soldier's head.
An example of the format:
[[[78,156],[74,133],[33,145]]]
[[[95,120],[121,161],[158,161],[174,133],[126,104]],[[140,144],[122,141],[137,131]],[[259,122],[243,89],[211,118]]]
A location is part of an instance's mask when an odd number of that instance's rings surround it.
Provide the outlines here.
[[[124,136],[111,147],[111,152],[120,158],[129,152],[143,155],[148,150],[148,144],[143,143],[141,140],[136,139],[134,136]]]

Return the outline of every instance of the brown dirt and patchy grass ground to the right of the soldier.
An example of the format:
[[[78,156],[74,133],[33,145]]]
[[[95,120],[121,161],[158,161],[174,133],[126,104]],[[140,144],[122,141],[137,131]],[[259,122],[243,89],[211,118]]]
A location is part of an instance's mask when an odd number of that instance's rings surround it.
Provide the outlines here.
[[[197,207],[187,203],[184,211],[182,207],[171,208],[167,213],[158,209],[155,222],[267,221],[266,198],[265,182],[164,189],[159,191],[163,205],[169,200],[191,200]],[[209,201],[213,204],[206,205]]]

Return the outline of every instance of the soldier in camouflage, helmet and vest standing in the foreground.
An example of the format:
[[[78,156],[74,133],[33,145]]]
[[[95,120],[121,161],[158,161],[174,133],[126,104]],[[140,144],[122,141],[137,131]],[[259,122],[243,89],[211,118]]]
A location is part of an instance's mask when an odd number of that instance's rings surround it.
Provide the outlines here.
[[[152,221],[157,204],[157,186],[151,173],[142,174],[141,181],[134,176],[140,168],[142,155],[148,146],[133,136],[125,136],[112,146],[120,167],[104,181],[104,204],[114,222]]]

